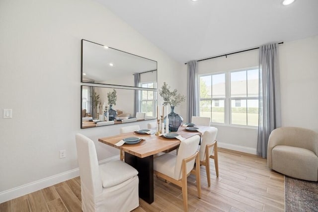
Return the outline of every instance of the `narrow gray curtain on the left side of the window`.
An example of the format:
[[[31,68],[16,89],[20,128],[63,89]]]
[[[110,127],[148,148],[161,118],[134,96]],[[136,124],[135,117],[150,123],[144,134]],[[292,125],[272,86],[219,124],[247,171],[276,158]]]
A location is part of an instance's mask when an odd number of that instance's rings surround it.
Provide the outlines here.
[[[191,122],[192,116],[199,114],[198,107],[198,66],[196,61],[188,62],[188,77],[187,77],[187,112],[188,122]]]

